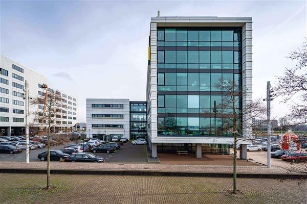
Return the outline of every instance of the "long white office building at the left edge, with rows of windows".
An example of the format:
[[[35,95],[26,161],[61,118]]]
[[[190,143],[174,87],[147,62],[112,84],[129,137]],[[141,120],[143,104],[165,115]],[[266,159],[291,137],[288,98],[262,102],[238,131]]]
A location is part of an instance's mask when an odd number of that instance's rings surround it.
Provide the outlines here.
[[[23,134],[25,129],[25,81],[29,83],[29,96],[36,98],[45,93],[42,84],[48,84],[47,78],[14,62],[0,56],[0,130],[4,135]],[[70,129],[77,121],[77,99],[69,93],[49,88],[49,92],[61,95],[62,112],[55,118],[55,128],[59,131]],[[34,112],[41,112],[42,106],[30,106],[30,125],[38,125],[34,121]]]

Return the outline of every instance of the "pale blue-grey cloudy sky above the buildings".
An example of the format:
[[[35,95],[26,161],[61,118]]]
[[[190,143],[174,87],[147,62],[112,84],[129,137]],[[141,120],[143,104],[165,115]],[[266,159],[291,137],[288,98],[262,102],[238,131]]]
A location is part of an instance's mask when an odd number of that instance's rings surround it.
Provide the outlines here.
[[[253,98],[266,96],[306,37],[306,1],[1,1],[0,53],[78,99],[146,99],[150,17],[253,18]],[[287,113],[273,101],[273,117]]]

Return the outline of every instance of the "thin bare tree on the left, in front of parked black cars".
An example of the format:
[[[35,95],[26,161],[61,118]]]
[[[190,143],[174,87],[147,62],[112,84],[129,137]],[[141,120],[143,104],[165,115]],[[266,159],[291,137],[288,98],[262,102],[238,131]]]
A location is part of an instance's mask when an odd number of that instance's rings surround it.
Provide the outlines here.
[[[46,112],[37,112],[36,120],[38,123],[48,125],[47,135],[47,186],[46,189],[50,189],[50,135],[51,127],[56,124],[55,116],[62,112],[62,97],[57,93],[49,92],[45,100],[45,95],[32,99],[31,105],[46,106]]]

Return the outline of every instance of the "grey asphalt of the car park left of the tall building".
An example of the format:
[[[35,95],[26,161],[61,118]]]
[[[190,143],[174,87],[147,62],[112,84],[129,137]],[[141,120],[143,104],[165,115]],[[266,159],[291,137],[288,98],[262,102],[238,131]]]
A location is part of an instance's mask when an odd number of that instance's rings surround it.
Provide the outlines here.
[[[82,141],[70,141],[65,142],[57,146],[51,146],[50,149],[61,149],[64,146],[70,144],[82,143]],[[47,147],[41,149],[32,149],[30,150],[30,161],[39,161],[37,155],[40,152],[47,151]],[[124,143],[121,146],[121,149],[116,150],[113,153],[100,153],[96,152],[94,155],[105,158],[106,162],[109,163],[146,163],[146,146],[145,145],[133,145],[131,143]],[[14,162],[23,162],[26,160],[26,151],[19,154],[0,154],[0,161],[14,161]],[[59,161],[52,161],[59,162]]]

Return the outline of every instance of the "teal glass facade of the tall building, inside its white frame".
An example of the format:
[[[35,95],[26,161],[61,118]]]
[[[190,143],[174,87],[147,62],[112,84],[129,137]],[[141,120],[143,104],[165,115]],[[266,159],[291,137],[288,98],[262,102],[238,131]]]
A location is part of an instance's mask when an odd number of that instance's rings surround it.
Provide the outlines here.
[[[242,87],[242,28],[158,27],[157,36],[158,136],[232,137],[223,86]]]

